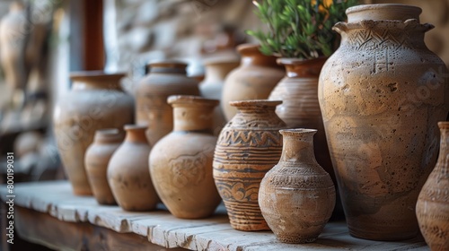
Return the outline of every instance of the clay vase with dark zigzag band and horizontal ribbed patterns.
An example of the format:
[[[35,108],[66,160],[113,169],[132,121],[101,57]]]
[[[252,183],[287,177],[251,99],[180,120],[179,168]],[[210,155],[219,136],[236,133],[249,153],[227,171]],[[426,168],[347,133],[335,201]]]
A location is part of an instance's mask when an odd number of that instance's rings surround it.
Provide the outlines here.
[[[286,124],[275,109],[282,101],[233,101],[239,112],[216,143],[214,179],[234,229],[268,230],[258,203],[260,181],[282,152],[279,129]]]

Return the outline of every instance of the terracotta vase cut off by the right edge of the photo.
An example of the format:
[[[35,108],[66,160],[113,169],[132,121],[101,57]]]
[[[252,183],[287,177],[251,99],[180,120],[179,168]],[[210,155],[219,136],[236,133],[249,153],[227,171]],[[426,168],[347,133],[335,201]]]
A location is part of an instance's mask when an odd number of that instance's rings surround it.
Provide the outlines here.
[[[449,250],[449,122],[438,123],[440,154],[418,196],[419,229],[431,250]]]

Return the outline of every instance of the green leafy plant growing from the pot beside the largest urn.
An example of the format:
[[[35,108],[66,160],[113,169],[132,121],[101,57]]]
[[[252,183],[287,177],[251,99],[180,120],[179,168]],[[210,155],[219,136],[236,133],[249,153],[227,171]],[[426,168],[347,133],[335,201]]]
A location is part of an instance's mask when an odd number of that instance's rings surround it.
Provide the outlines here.
[[[330,56],[339,37],[332,30],[346,20],[345,11],[357,0],[264,0],[253,1],[255,13],[268,31],[246,30],[260,40],[265,55],[296,58]]]

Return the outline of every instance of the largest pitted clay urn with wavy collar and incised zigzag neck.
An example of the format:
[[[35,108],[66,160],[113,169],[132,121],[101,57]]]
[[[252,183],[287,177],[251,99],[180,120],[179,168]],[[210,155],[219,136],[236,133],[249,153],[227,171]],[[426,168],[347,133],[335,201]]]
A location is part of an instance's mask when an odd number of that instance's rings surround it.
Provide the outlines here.
[[[321,113],[349,232],[394,240],[418,233],[418,193],[435,167],[448,72],[429,51],[421,9],[358,5],[335,25],[339,49],[323,66]]]

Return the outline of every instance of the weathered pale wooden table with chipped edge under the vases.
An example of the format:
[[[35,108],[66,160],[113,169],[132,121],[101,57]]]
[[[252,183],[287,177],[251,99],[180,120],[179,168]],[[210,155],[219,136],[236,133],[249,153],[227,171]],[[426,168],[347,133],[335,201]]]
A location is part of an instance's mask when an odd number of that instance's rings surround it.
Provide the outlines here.
[[[6,192],[2,186],[3,201]],[[328,223],[315,243],[283,244],[270,231],[232,229],[224,207],[212,218],[195,221],[177,219],[163,205],[154,212],[124,212],[119,206],[101,206],[92,196],[73,195],[67,181],[16,184],[13,194],[14,234],[56,249],[428,250],[422,237],[402,242],[352,238],[345,222]]]

